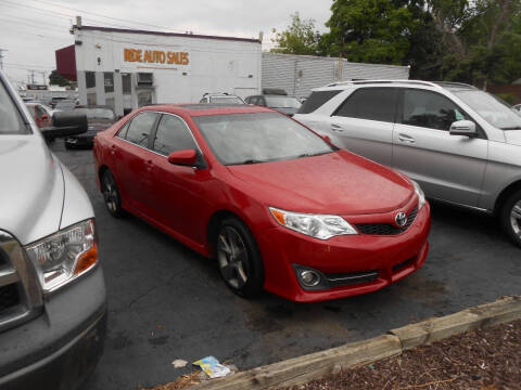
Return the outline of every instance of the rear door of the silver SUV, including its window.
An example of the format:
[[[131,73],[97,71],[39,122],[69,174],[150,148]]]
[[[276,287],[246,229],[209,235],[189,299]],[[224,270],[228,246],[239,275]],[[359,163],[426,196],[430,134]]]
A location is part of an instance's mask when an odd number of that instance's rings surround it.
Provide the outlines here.
[[[397,102],[396,88],[355,90],[330,119],[338,146],[390,166]]]

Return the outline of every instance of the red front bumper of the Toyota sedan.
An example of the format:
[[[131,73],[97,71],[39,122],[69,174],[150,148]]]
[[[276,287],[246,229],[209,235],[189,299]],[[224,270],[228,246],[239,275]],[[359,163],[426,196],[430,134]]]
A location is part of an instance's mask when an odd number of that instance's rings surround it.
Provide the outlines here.
[[[257,237],[265,264],[265,289],[287,299],[312,302],[367,294],[381,289],[420,269],[429,251],[431,226],[427,203],[414,223],[397,235],[338,236],[327,240],[307,237],[285,227],[269,229]],[[369,282],[326,289],[304,289],[295,266],[322,275],[377,273]]]

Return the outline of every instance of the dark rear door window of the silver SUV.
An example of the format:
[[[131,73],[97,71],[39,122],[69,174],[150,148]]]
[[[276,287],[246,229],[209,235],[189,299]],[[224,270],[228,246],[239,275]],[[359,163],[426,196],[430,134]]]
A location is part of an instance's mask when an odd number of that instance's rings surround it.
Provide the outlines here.
[[[360,88],[339,107],[335,116],[394,122],[398,90]]]

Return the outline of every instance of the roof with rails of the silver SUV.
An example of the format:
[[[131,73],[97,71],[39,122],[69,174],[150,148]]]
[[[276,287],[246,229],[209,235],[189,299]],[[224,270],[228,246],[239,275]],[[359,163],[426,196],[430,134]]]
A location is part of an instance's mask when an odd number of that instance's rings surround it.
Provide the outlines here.
[[[433,89],[445,89],[449,91],[461,91],[461,90],[478,90],[478,88],[462,83],[462,82],[450,82],[450,81],[423,81],[423,80],[348,80],[348,81],[335,81],[331,82],[325,87],[316,88],[313,91],[331,91],[331,90],[344,90],[350,87],[357,86],[399,86],[399,87],[430,87]]]

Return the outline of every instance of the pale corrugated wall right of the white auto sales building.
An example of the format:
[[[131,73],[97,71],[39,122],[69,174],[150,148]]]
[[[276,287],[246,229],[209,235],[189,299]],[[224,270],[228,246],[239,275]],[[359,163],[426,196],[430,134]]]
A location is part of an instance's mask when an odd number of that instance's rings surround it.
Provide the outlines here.
[[[342,80],[408,79],[408,66],[342,62]],[[282,88],[296,98],[339,81],[339,58],[263,53],[262,88]]]

